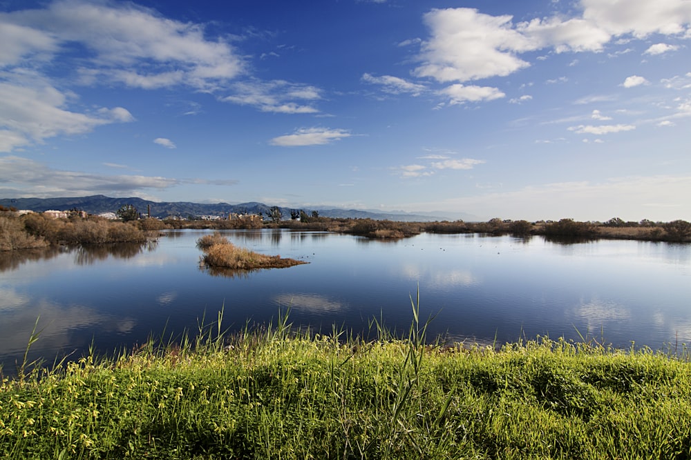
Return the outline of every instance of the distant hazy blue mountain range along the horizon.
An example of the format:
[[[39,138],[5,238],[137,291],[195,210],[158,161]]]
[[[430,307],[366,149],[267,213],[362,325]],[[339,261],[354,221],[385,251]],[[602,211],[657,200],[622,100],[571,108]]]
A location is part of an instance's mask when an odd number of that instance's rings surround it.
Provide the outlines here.
[[[183,217],[190,216],[227,216],[229,212],[236,212],[238,214],[259,214],[260,212],[267,215],[269,208],[264,203],[250,202],[240,204],[229,203],[191,203],[188,201],[149,201],[137,197],[130,198],[112,198],[104,195],[93,195],[91,197],[65,197],[65,198],[15,198],[15,199],[0,199],[0,205],[9,208],[13,206],[19,210],[32,210],[35,212],[44,212],[47,210],[70,210],[77,208],[84,210],[89,214],[101,214],[102,212],[116,212],[122,206],[129,204],[137,208],[137,210],[146,216],[150,214],[151,217],[158,217],[164,219],[166,217]],[[301,209],[312,214],[312,209],[307,208],[288,208],[281,207],[283,219],[290,218],[290,211],[294,209]],[[392,220],[392,221],[442,221],[442,220],[457,220],[462,217],[448,217],[444,212],[417,212],[408,213],[403,211],[394,212],[379,212],[377,210],[345,210],[345,209],[314,209],[323,217],[335,218],[350,218],[350,219],[376,219],[376,220]],[[467,214],[469,215],[469,214]],[[471,219],[464,219],[471,220]]]

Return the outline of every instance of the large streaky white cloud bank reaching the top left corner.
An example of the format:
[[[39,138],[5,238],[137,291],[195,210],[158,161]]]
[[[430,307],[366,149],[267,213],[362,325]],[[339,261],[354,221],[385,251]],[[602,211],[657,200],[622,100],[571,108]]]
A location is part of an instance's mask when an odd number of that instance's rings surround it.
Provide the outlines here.
[[[182,83],[209,90],[245,70],[227,41],[205,39],[204,26],[166,19],[134,3],[57,0],[45,9],[3,14],[0,20],[32,32],[31,39],[17,37],[4,48],[9,60],[84,46],[93,52],[84,62],[92,77],[127,86]]]

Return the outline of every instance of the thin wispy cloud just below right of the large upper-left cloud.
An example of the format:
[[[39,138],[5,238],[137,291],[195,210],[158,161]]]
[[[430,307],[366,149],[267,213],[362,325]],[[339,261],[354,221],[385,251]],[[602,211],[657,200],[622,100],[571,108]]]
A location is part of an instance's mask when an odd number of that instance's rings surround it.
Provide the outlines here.
[[[321,90],[314,86],[283,80],[253,80],[235,83],[232,89],[234,94],[223,97],[222,101],[253,106],[262,112],[286,114],[319,112],[309,103],[296,102],[321,99]]]

